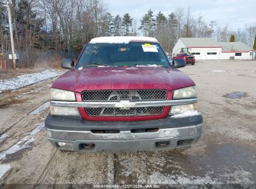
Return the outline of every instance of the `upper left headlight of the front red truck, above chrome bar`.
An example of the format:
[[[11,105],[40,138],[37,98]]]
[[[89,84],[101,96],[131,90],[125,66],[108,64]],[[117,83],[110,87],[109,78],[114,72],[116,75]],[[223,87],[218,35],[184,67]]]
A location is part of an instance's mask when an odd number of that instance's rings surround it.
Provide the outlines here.
[[[75,101],[75,92],[51,88],[50,99],[58,101]]]

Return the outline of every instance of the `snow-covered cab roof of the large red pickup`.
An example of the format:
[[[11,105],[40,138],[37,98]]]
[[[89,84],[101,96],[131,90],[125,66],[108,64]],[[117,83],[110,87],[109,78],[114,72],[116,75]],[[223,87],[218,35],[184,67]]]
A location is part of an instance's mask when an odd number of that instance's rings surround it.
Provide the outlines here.
[[[151,42],[158,43],[153,37],[134,37],[134,36],[116,36],[116,37],[97,37],[90,41],[90,44],[129,44],[130,42]]]

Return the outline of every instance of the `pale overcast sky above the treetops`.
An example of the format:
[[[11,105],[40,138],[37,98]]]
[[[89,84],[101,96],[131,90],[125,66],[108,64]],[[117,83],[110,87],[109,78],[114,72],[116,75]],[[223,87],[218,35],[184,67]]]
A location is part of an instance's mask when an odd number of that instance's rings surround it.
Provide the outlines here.
[[[166,16],[179,7],[190,7],[193,17],[203,16],[206,22],[217,21],[220,27],[229,25],[229,29],[244,29],[245,25],[256,25],[256,0],[105,0],[112,15],[126,12],[138,20],[149,9],[163,12]]]

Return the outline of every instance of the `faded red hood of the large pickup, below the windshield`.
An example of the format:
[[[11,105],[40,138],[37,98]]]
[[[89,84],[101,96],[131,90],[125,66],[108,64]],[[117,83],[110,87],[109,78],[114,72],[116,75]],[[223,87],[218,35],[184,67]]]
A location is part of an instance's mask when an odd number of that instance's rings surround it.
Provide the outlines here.
[[[93,67],[74,69],[61,75],[52,88],[84,90],[175,90],[195,85],[183,72],[161,67]]]

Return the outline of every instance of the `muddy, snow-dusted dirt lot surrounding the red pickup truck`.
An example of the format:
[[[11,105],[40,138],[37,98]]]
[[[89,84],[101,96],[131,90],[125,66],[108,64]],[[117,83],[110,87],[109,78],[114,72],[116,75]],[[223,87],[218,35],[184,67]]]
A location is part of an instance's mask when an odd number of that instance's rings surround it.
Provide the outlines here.
[[[204,117],[203,136],[191,149],[60,152],[43,130],[50,80],[34,85],[37,90],[19,94],[16,104],[0,109],[0,169],[11,167],[0,183],[26,188],[36,183],[255,187],[256,61],[204,61],[180,70],[196,82]],[[241,93],[229,95],[234,92]]]

